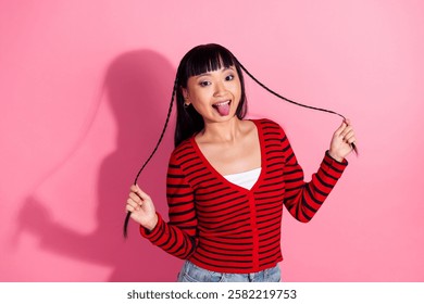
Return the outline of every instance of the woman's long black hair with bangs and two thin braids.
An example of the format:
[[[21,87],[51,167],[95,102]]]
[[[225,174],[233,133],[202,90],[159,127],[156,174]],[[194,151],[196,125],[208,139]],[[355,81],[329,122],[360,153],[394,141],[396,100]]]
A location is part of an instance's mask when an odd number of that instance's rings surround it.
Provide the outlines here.
[[[171,103],[170,107],[167,111],[167,116],[165,124],[163,126],[161,136],[158,140],[157,145],[154,147],[153,151],[151,152],[150,156],[147,159],[147,161],[144,163],[141,168],[139,169],[134,183],[137,183],[138,177],[146,167],[146,165],[150,162],[151,157],[154,155],[157,152],[160,143],[162,142],[163,136],[165,134],[166,127],[170,122],[171,113],[172,113],[172,107],[173,107],[173,102],[174,98],[176,96],[176,107],[177,107],[177,117],[176,117],[176,127],[175,127],[175,135],[174,135],[174,144],[177,147],[179,143],[182,143],[184,140],[190,138],[195,134],[201,131],[204,128],[204,122],[202,116],[195,110],[194,106],[184,106],[184,96],[183,96],[183,89],[187,88],[187,80],[191,76],[197,76],[207,72],[212,72],[216,71],[223,67],[229,67],[229,66],[235,66],[238,77],[240,79],[240,85],[241,85],[241,96],[240,96],[240,102],[238,104],[238,107],[236,110],[236,116],[239,119],[242,119],[247,113],[247,100],[246,100],[246,92],[245,92],[245,79],[242,72],[244,71],[250,78],[252,78],[258,85],[260,85],[262,88],[264,88],[266,91],[270,93],[287,101],[290,103],[294,103],[299,106],[312,109],[312,110],[317,110],[322,112],[327,112],[332,114],[336,114],[344,119],[345,116],[331,111],[331,110],[325,110],[321,107],[315,107],[315,106],[310,106],[305,105],[292,100],[289,100],[277,92],[271,90],[267,88],[265,85],[263,85],[261,81],[259,81],[249,71],[246,69],[246,67],[236,59],[236,56],[228,51],[226,48],[215,45],[215,43],[209,43],[209,45],[201,45],[192,48],[190,51],[188,51],[182,61],[179,62],[178,69],[175,76],[175,83],[174,87],[172,90],[172,96],[171,96]],[[354,152],[358,154],[357,147],[354,143],[352,143],[352,148]],[[127,236],[127,226],[129,221],[129,216],[130,213],[127,213],[127,216],[125,218],[124,223],[124,237],[126,238]]]

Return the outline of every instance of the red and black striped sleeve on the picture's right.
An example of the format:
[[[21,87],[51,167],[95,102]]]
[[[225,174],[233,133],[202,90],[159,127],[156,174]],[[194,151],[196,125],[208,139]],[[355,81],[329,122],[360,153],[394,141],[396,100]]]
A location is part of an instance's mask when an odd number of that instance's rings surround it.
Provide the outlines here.
[[[311,220],[328,197],[348,162],[346,160],[341,163],[337,162],[326,152],[319,170],[312,175],[311,181],[304,182],[303,170],[298,164],[284,131],[282,145],[286,162],[284,168],[286,188],[284,204],[296,219],[307,223]]]

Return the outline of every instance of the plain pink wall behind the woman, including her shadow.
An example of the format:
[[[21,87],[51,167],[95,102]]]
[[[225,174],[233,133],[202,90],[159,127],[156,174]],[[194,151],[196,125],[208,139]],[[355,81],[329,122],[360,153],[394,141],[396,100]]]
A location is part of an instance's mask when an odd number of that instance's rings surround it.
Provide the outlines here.
[[[217,42],[358,134],[316,217],[285,213],[284,280],[423,281],[423,13],[419,0],[1,1],[0,280],[175,280],[183,262],[135,224],[123,240],[124,204],[179,59]],[[247,89],[249,115],[283,125],[309,178],[339,117]],[[173,127],[140,178],[163,214],[172,148]]]

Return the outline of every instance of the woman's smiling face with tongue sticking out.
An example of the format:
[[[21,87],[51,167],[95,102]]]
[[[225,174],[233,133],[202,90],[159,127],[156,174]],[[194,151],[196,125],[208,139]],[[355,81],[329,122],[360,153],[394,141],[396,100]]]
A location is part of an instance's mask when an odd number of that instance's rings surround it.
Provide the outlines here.
[[[223,67],[189,77],[183,96],[185,103],[190,103],[205,124],[233,118],[241,98],[236,67]]]

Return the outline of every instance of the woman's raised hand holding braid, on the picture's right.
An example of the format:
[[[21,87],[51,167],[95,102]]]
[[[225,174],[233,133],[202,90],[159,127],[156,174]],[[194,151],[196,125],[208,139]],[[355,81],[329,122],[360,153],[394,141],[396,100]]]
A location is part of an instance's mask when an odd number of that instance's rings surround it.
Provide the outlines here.
[[[353,127],[349,119],[345,119],[333,135],[328,154],[336,161],[341,162],[353,150],[353,142],[357,143]]]

